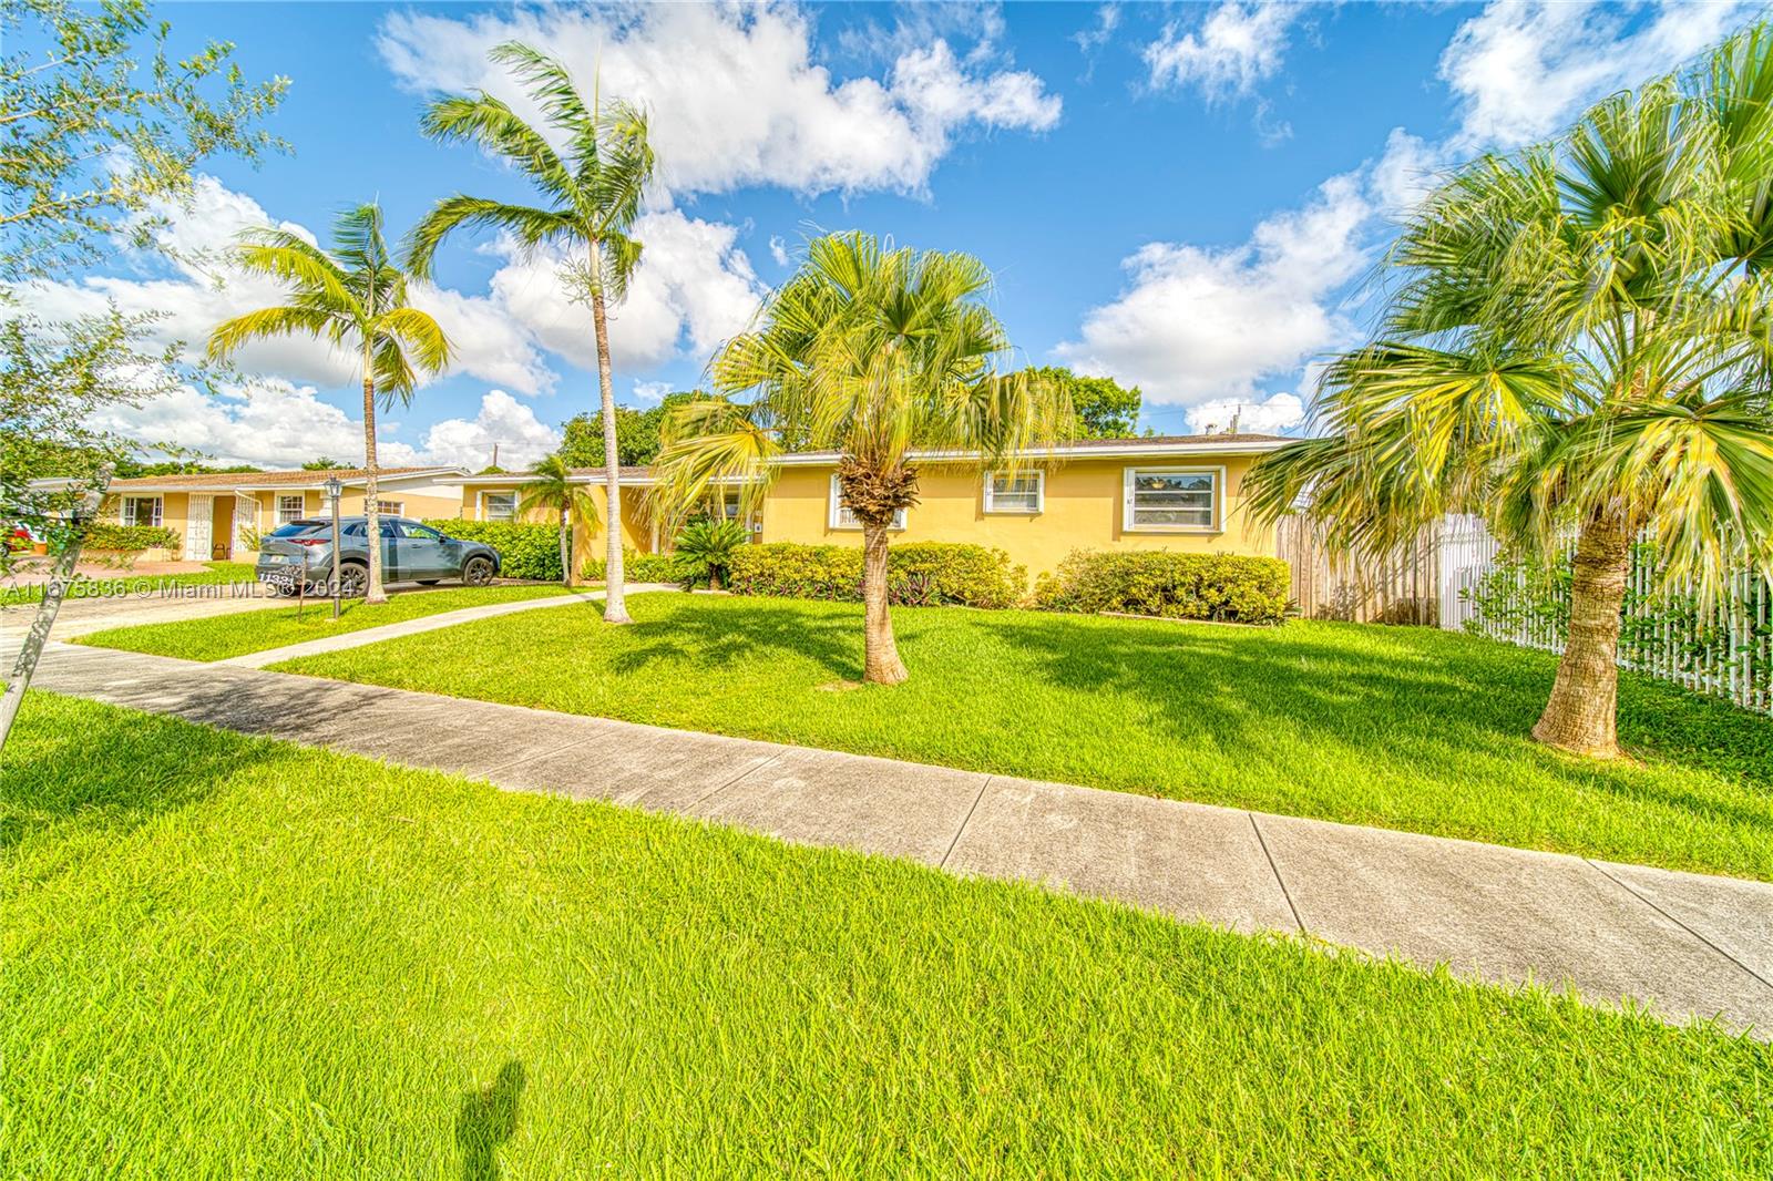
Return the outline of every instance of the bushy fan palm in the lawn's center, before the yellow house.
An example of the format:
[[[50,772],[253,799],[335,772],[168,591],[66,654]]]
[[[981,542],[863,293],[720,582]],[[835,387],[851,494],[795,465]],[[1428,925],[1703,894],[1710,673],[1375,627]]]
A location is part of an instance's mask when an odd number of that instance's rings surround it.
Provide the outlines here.
[[[665,424],[656,495],[672,509],[739,481],[750,516],[782,450],[840,454],[842,504],[862,525],[867,681],[897,684],[904,663],[886,603],[894,516],[917,504],[915,452],[950,465],[1014,466],[1066,438],[1069,403],[1051,385],[1002,376],[1009,353],[980,296],[991,275],[966,254],[894,248],[869,234],[808,243],[807,261],[713,362],[716,397]],[[748,401],[732,401],[748,394]]]

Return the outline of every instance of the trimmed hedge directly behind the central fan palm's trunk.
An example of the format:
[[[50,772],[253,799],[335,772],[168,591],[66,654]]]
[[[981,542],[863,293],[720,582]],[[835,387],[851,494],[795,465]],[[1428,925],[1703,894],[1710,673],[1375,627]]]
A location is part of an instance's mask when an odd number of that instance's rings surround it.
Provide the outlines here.
[[[727,587],[734,594],[791,599],[862,599],[862,550],[775,541],[732,555]],[[988,546],[913,541],[886,550],[886,594],[908,606],[1004,608],[1021,601],[1028,571]]]

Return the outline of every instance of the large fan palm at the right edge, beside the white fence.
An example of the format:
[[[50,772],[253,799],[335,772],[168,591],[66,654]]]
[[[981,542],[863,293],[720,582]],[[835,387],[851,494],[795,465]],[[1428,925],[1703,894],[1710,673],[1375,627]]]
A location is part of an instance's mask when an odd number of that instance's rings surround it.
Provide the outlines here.
[[[1773,567],[1773,35],[1610,98],[1560,140],[1486,156],[1411,218],[1378,337],[1316,399],[1328,438],[1245,482],[1383,551],[1480,512],[1551,562],[1574,536],[1569,638],[1534,736],[1612,757],[1633,543],[1663,587]]]

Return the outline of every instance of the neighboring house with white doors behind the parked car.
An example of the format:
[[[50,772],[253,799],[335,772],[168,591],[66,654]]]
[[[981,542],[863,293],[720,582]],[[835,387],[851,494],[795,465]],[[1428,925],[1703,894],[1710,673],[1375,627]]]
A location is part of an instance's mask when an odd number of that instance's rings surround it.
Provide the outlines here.
[[[390,516],[457,516],[461,489],[443,484],[466,468],[381,468],[376,500]],[[215,475],[147,475],[112,481],[101,514],[122,525],[165,525],[179,534],[186,560],[246,560],[241,532],[268,534],[298,518],[324,516],[326,479],[344,484],[339,512],[363,512],[362,468],[330,472],[227,472]]]

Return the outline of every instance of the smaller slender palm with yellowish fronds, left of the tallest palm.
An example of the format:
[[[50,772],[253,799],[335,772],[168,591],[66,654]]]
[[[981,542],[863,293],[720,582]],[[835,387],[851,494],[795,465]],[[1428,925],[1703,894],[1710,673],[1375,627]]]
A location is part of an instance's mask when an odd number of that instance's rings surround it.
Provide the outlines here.
[[[426,312],[406,305],[406,275],[394,264],[381,234],[381,206],[356,206],[339,216],[332,250],[321,250],[282,229],[250,229],[232,262],[289,287],[289,303],[266,307],[216,325],[209,356],[225,358],[261,337],[309,335],[349,349],[363,369],[363,514],[369,518],[369,603],[387,601],[381,589],[381,514],[376,511],[376,399],[411,403],[418,371],[449,365],[450,346]],[[417,369],[415,369],[417,367]]]

